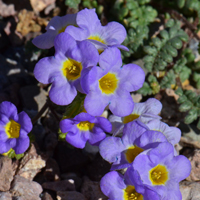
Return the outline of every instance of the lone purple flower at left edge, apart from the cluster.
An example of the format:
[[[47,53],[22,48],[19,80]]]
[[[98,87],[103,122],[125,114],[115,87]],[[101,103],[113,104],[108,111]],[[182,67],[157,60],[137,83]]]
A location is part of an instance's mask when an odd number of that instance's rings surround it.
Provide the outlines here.
[[[11,148],[16,154],[24,153],[29,147],[31,129],[31,119],[25,112],[17,114],[15,105],[7,101],[0,104],[0,154]]]

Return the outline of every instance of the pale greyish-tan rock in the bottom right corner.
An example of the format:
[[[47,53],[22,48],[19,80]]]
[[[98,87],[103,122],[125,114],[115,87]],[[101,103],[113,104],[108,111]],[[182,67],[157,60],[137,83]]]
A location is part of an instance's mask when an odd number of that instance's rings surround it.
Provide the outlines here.
[[[183,181],[180,183],[180,191],[182,200],[199,200],[200,199],[200,183]]]

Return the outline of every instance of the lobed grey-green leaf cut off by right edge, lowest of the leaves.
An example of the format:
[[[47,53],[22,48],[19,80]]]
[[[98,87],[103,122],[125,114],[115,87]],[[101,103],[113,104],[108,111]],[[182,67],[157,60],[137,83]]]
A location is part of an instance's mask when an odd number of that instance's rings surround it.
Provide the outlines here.
[[[200,129],[200,95],[197,95],[192,90],[182,90],[178,88],[176,94],[179,95],[178,103],[180,103],[179,110],[181,112],[188,112],[184,122],[186,124],[198,120],[197,128]]]

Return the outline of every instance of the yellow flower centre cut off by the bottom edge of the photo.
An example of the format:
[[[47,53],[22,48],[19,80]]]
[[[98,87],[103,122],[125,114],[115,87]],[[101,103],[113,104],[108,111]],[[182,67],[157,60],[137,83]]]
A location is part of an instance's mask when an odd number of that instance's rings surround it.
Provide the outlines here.
[[[143,200],[143,196],[135,191],[135,187],[128,185],[124,189],[124,200]]]

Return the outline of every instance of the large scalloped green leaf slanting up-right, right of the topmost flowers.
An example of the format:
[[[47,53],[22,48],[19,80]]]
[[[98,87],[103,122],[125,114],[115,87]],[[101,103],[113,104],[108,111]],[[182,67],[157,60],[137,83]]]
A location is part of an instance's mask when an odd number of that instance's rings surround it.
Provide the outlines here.
[[[150,72],[165,70],[187,40],[188,35],[180,28],[180,22],[168,20],[158,37],[152,38],[150,45],[144,47],[147,54],[143,59],[144,67]]]

